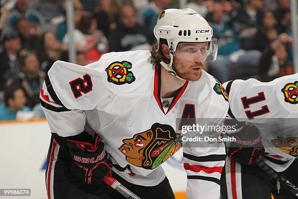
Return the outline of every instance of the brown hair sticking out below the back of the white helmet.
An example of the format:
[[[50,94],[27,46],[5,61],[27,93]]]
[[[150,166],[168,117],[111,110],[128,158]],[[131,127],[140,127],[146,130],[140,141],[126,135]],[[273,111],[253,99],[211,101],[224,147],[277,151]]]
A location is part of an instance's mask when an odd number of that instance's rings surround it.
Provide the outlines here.
[[[159,64],[161,61],[164,61],[166,63],[169,63],[170,61],[165,57],[165,55],[162,52],[161,46],[163,43],[168,45],[168,41],[166,39],[160,39],[159,46],[156,41],[150,49],[151,57],[149,58],[149,61],[153,64],[153,68],[156,64]]]

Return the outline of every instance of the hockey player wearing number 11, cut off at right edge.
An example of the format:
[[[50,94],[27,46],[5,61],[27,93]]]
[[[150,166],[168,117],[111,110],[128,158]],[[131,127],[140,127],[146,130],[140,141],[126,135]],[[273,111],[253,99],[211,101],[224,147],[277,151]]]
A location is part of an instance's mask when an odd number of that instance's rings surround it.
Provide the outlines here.
[[[298,74],[266,83],[255,79],[228,81],[223,87],[230,105],[228,115],[246,122],[238,138],[246,134],[249,139],[228,150],[222,198],[271,198],[270,176],[256,165],[259,158],[298,186]],[[276,187],[273,193],[277,199],[297,198],[279,182]]]

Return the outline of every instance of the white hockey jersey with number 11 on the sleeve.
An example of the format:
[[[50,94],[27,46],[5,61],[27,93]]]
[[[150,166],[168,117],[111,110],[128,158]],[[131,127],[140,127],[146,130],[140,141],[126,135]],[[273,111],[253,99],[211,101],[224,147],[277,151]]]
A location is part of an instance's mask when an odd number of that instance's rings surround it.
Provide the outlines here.
[[[229,116],[258,127],[265,162],[281,172],[298,158],[298,74],[271,82],[225,82]]]

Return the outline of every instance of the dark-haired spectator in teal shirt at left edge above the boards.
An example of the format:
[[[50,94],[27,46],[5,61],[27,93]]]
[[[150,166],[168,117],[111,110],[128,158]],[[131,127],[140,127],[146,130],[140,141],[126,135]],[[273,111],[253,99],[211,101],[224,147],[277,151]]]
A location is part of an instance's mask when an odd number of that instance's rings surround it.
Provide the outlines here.
[[[11,86],[5,89],[4,102],[0,104],[0,120],[16,120],[19,110],[30,112],[25,106],[27,99],[23,89],[19,86]]]

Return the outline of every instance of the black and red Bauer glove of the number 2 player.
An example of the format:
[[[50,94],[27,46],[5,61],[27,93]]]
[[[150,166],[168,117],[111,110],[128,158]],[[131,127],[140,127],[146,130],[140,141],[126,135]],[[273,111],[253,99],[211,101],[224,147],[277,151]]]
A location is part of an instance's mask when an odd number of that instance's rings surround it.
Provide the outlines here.
[[[72,156],[71,171],[84,182],[101,185],[103,178],[112,174],[112,161],[99,137],[88,134],[88,141],[67,139]]]

